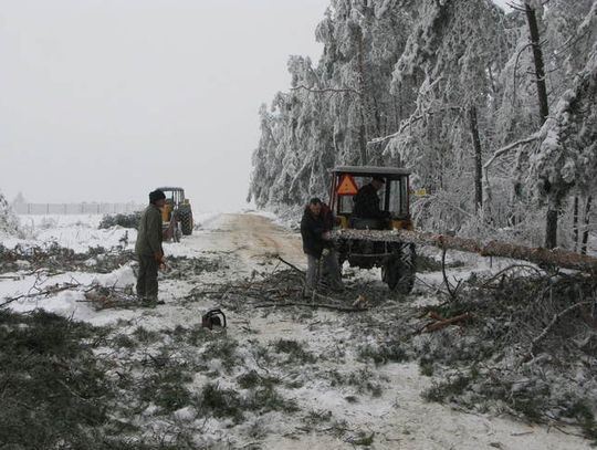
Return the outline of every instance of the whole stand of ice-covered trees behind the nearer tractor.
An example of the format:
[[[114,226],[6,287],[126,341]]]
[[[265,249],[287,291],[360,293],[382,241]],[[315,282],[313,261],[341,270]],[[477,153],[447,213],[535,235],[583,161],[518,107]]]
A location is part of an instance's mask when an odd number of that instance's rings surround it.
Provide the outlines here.
[[[596,3],[331,0],[321,60],[291,57],[289,91],[260,111],[250,195],[287,208],[325,197],[333,165],[404,165],[430,192],[419,227],[540,243],[537,196],[558,213],[594,196]]]

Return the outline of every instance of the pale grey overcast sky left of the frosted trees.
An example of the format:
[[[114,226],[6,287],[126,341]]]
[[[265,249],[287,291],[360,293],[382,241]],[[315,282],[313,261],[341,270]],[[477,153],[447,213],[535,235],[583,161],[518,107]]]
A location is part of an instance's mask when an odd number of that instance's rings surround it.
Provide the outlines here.
[[[242,207],[259,106],[289,55],[320,57],[328,2],[0,0],[0,191]]]

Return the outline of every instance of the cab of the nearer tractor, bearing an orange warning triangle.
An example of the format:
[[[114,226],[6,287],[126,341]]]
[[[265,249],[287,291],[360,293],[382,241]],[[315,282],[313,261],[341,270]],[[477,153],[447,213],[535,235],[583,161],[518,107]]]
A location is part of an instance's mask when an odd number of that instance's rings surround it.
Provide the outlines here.
[[[342,166],[332,169],[331,172],[329,207],[341,219],[342,228],[412,229],[409,203],[409,170],[397,167]],[[377,196],[380,199],[379,209],[386,211],[387,220],[359,218],[353,212],[354,197],[374,177],[383,178],[385,181]]]

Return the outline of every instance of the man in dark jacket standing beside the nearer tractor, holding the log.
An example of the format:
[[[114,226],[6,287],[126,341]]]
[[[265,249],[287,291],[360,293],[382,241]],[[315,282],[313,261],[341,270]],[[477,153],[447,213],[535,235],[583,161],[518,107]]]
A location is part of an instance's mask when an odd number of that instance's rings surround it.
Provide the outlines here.
[[[303,251],[307,255],[307,273],[305,280],[305,296],[311,296],[317,287],[320,279],[320,262],[325,264],[331,278],[332,287],[342,290],[339,266],[329,231],[334,227],[334,214],[327,205],[318,198],[312,198],[305,207],[301,220]]]

